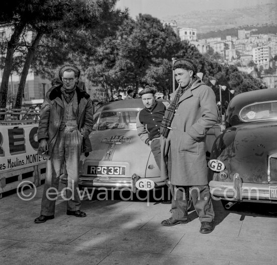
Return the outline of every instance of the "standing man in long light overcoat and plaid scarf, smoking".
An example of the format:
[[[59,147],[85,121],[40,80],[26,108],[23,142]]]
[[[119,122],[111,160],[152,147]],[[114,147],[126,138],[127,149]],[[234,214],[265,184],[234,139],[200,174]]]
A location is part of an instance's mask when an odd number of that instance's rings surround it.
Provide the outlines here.
[[[161,176],[169,177],[172,216],[162,225],[173,226],[187,221],[188,190],[201,222],[201,233],[213,230],[214,210],[205,157],[207,130],[218,120],[216,96],[196,75],[197,67],[189,59],[173,65],[178,89],[161,124]]]

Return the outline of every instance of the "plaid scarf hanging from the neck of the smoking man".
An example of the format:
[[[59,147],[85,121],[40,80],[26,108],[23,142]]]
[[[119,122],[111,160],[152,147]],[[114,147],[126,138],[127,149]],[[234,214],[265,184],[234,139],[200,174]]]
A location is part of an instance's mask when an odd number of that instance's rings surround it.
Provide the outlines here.
[[[196,81],[195,78],[193,78],[191,80],[191,82],[184,88],[181,88],[180,87],[180,83],[179,83],[179,86],[178,86],[178,91],[174,97],[174,99],[171,101],[168,109],[165,111],[165,116],[162,120],[162,123],[161,123],[161,127],[160,127],[160,133],[161,135],[163,135],[164,137],[167,137],[168,134],[169,134],[169,131],[172,129],[170,128],[170,125],[171,125],[171,122],[173,120],[173,117],[174,117],[174,113],[175,113],[175,110],[177,109],[177,104],[178,104],[178,101],[179,101],[179,98],[180,96],[183,95],[183,93],[185,92],[185,90],[191,88],[192,84]]]

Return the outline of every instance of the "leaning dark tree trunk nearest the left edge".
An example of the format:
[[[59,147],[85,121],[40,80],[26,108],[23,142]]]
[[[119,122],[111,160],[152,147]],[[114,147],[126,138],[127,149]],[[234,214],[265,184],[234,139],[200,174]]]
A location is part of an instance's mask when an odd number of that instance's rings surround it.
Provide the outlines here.
[[[3,77],[2,77],[1,88],[0,88],[0,107],[1,108],[6,107],[9,78],[10,78],[10,74],[12,72],[13,55],[14,55],[15,48],[19,42],[20,35],[21,35],[25,25],[26,25],[26,22],[21,21],[15,27],[14,33],[8,42],[7,54],[6,54],[6,58],[5,58],[5,68],[3,71]],[[2,116],[3,115],[1,115],[0,119],[4,118]]]

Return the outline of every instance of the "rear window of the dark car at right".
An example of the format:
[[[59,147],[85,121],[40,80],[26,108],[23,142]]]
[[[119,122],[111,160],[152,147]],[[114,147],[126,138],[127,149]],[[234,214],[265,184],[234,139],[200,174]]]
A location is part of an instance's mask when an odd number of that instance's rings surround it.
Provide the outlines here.
[[[277,119],[277,101],[258,102],[245,106],[240,111],[243,121]]]

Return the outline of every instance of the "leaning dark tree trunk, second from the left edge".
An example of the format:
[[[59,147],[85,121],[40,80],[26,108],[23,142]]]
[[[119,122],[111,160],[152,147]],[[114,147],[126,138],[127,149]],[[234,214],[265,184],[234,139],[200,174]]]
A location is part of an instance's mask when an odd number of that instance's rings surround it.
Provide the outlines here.
[[[29,68],[30,68],[31,62],[34,57],[36,47],[38,46],[42,36],[43,36],[43,33],[41,33],[41,32],[37,33],[36,37],[32,41],[32,45],[29,48],[28,53],[26,55],[26,60],[25,60],[24,67],[23,67],[23,70],[21,73],[21,78],[20,78],[19,87],[18,87],[18,91],[17,91],[15,108],[21,108],[22,98],[23,98],[23,94],[24,94],[24,88],[25,88]]]

